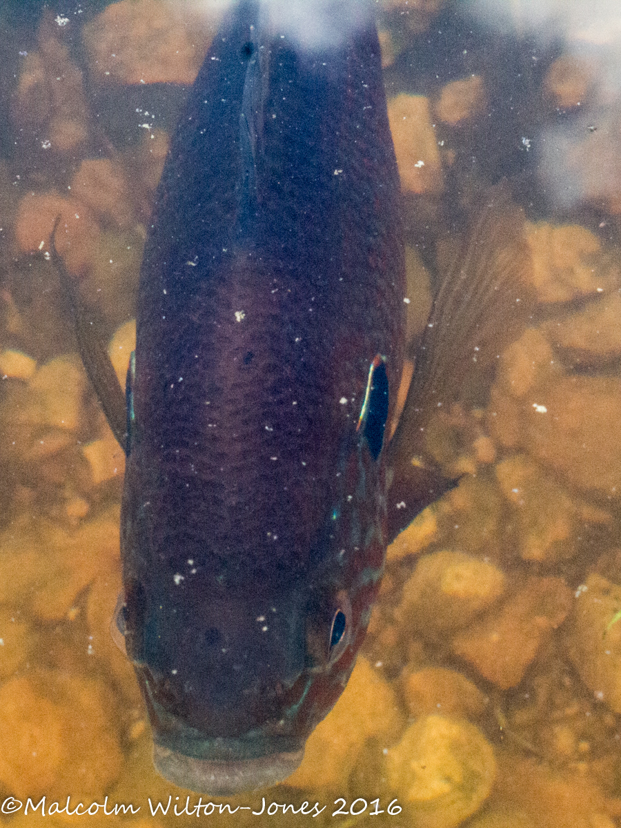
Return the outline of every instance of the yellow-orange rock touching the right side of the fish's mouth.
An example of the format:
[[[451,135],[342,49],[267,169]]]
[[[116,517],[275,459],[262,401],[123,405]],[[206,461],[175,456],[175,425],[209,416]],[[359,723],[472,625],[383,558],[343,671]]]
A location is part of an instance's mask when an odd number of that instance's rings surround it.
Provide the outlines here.
[[[304,759],[287,785],[344,790],[366,740],[375,737],[391,744],[402,726],[403,715],[392,687],[359,656],[343,695],[310,734]]]

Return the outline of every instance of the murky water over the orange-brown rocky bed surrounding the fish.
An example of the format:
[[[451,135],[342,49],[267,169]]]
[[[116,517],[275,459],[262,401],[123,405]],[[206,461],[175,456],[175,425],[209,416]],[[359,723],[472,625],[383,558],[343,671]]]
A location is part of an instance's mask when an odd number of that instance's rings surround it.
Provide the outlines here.
[[[389,548],[347,690],[294,776],[231,800],[231,816],[222,799],[186,801],[152,769],[132,668],[108,631],[123,452],[50,258],[60,214],[58,251],[123,377],[167,136],[213,30],[152,0],[105,5],[0,8],[2,818],[31,825],[41,806],[26,815],[28,797],[46,797],[48,825],[611,828],[621,816],[614,7],[583,19],[573,4],[383,2],[412,343],[461,249],[502,258],[502,234],[472,241],[469,226],[503,178],[523,210],[534,298],[513,341],[462,372],[426,430],[427,460],[458,482]],[[91,816],[54,813],[79,802]],[[157,802],[170,802],[166,814],[152,814]],[[134,813],[108,816],[120,803]]]

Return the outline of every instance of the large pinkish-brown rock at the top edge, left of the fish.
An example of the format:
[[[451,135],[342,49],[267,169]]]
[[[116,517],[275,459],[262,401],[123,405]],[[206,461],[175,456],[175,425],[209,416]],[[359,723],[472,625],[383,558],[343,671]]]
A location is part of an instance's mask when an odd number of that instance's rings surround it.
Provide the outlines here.
[[[84,46],[99,83],[191,84],[210,42],[197,34],[169,3],[122,0],[84,26]]]

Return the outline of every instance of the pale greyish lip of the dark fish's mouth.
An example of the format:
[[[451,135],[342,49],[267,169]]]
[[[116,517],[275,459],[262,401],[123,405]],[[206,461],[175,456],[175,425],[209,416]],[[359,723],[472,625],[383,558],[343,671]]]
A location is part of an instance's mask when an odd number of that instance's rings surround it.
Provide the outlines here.
[[[196,793],[229,797],[275,785],[291,776],[304,758],[304,748],[243,759],[214,759],[188,756],[164,745],[153,744],[157,773]]]

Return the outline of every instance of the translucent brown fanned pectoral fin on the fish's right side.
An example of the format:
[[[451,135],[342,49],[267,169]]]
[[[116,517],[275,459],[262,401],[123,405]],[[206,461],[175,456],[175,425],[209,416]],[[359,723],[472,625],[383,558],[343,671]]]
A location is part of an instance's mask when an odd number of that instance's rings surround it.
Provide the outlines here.
[[[388,447],[388,465],[399,489],[404,481],[416,489],[416,474],[425,481],[425,491],[450,488],[448,481],[441,484],[431,460],[418,473],[412,459],[426,458],[426,426],[437,408],[459,400],[474,373],[489,368],[527,324],[535,297],[523,231],[522,209],[513,203],[506,182],[492,187],[446,272],[416,351],[402,416]]]

